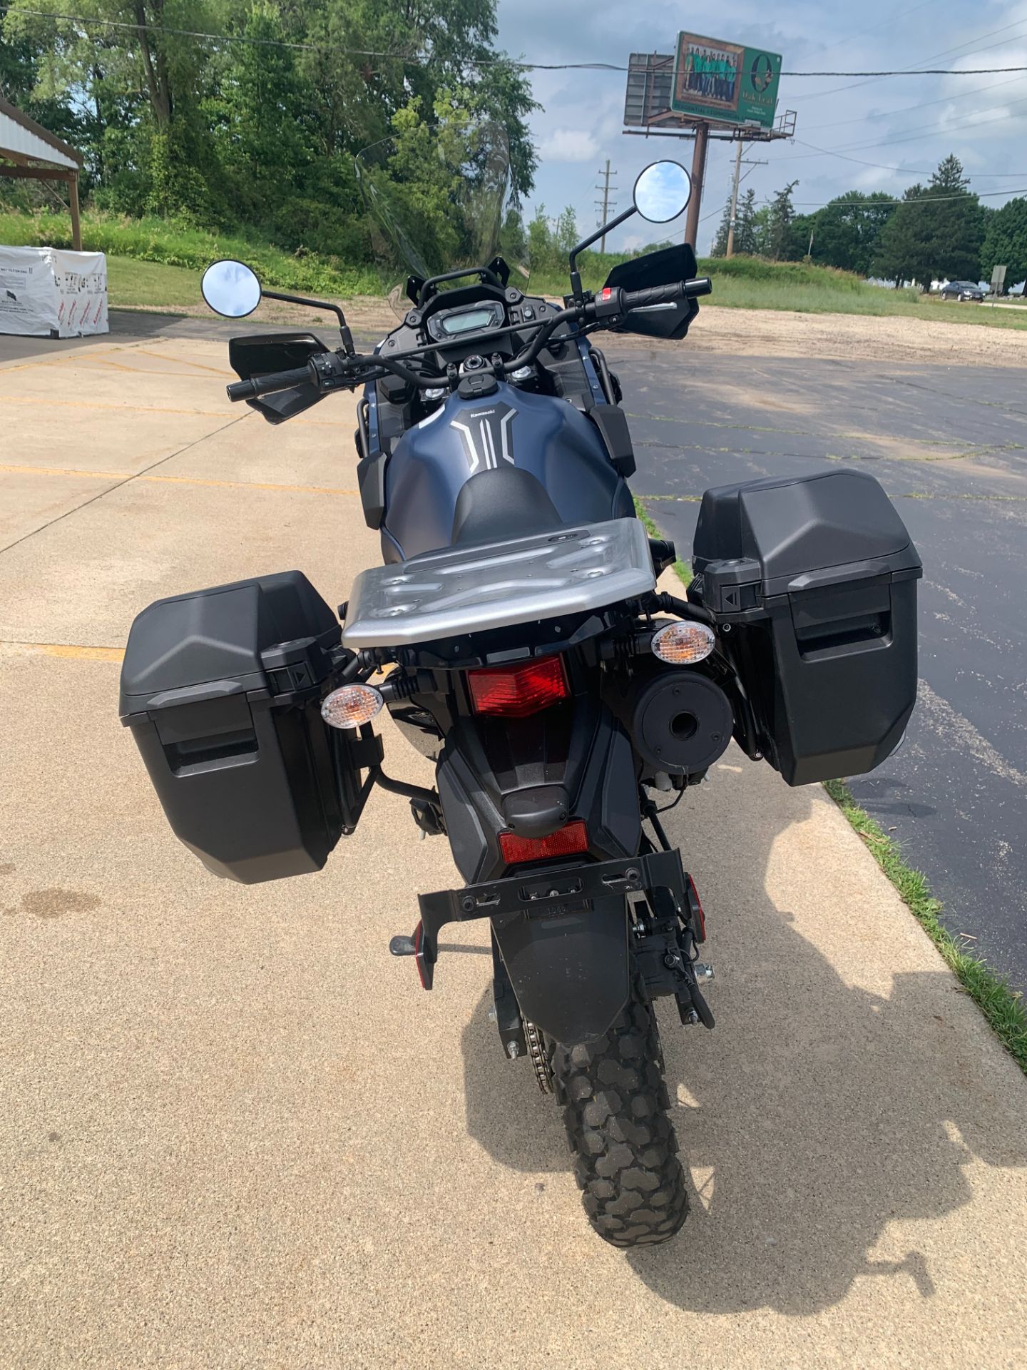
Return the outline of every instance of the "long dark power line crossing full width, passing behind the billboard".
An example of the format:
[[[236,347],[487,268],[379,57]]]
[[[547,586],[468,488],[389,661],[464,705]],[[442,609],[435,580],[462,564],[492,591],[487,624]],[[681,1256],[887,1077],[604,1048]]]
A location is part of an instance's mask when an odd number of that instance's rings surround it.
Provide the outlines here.
[[[81,23],[100,26],[105,29],[121,29],[131,33],[162,33],[174,38],[200,38],[208,42],[245,42],[260,48],[289,48],[293,52],[340,52],[353,58],[392,58],[401,62],[420,62],[416,52],[409,48],[346,48],[334,42],[289,42],[285,38],[256,38],[245,33],[205,33],[199,29],[175,29],[160,23],[129,23],[123,19],[96,19],[81,14],[52,14],[48,10],[23,10],[21,5],[0,4],[0,12],[23,14],[37,19],[53,19],[62,23]],[[1009,25],[1009,27],[1013,27]],[[996,30],[1001,32],[1001,30]],[[996,44],[1001,47],[1001,44]],[[983,51],[983,49],[980,49]],[[612,62],[520,62],[508,56],[468,58],[468,66],[505,66],[518,71],[627,71],[624,66]],[[1022,67],[917,67],[915,70],[890,71],[782,71],[782,77],[983,77],[1000,75],[1006,71],[1027,71]],[[831,95],[830,90],[817,90],[816,95]],[[811,97],[812,99],[812,97]]]

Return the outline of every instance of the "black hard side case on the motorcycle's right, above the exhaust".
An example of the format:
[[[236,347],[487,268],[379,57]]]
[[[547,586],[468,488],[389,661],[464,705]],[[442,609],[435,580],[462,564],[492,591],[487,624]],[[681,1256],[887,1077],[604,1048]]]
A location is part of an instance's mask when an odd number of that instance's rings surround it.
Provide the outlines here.
[[[922,567],[874,477],[707,490],[693,552],[689,599],[715,614],[750,704],[738,741],[789,785],[879,766],[916,701]]]

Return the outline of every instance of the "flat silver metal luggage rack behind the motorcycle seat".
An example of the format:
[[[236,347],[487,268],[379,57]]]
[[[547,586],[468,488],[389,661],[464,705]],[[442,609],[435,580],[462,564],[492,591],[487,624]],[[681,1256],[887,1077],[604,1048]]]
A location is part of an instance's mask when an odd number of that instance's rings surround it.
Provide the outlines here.
[[[412,647],[605,608],[655,589],[635,518],[579,523],[501,543],[448,547],[357,575],[345,647]]]

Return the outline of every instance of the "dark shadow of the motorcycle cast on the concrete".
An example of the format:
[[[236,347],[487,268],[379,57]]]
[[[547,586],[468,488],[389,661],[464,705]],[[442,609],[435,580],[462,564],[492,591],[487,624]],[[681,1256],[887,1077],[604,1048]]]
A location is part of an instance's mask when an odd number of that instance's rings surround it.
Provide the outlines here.
[[[941,960],[897,974],[887,997],[841,978],[764,888],[771,815],[790,811],[783,832],[809,800],[761,804],[726,778],[720,800],[696,806],[687,825],[675,815],[671,834],[696,854],[686,866],[707,906],[704,952],[722,966],[708,996],[713,1032],[682,1029],[667,1001],[659,1008],[692,1212],[674,1241],[626,1260],[661,1297],[702,1312],[809,1314],[867,1274],[911,1280],[931,1297],[933,1252],[886,1228],[969,1203],[964,1167],[976,1158],[1027,1164],[1023,1081],[998,1052],[982,1054],[982,1025]],[[718,864],[726,830],[745,833],[745,858]],[[849,918],[860,936],[859,910]],[[846,973],[859,964],[846,956]],[[487,995],[463,1038],[471,1134],[514,1169],[568,1170],[553,1100],[523,1064],[504,1066],[486,1007]]]

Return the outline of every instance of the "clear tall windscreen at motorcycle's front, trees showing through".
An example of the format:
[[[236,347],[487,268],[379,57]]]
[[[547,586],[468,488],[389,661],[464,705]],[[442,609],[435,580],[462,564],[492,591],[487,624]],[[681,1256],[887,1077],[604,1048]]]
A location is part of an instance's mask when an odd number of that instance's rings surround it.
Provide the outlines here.
[[[414,123],[364,148],[356,174],[375,255],[392,282],[389,303],[400,318],[409,308],[408,275],[429,279],[487,266],[497,253],[524,288],[524,229],[501,125]]]

